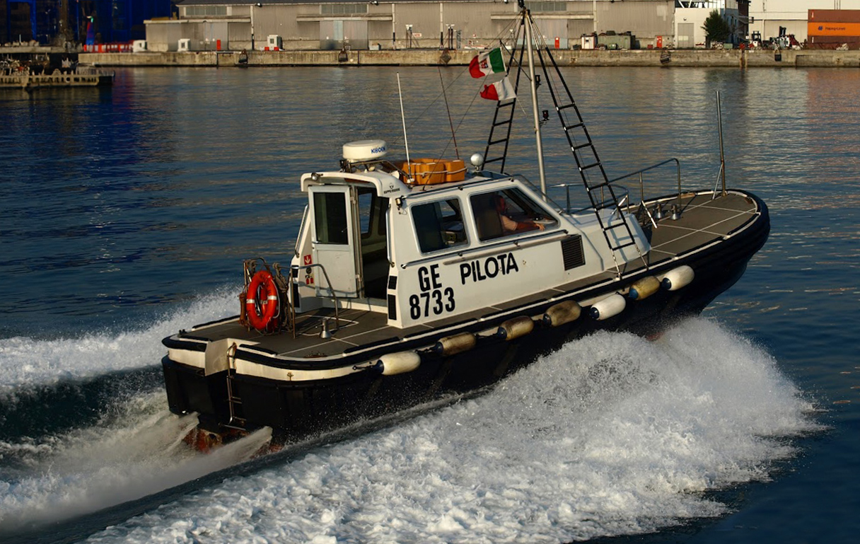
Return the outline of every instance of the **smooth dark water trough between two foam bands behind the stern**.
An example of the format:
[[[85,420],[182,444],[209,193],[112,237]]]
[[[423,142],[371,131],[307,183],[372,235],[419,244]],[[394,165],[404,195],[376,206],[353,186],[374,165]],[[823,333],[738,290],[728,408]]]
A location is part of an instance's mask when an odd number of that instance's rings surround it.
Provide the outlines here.
[[[0,399],[0,441],[53,435],[88,427],[117,399],[163,386],[160,366],[102,374],[87,381],[64,381],[16,389]]]

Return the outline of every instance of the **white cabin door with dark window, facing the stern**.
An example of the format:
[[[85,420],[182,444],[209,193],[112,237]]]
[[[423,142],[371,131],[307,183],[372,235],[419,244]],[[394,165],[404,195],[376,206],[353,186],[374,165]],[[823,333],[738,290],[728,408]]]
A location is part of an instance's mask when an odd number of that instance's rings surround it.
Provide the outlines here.
[[[319,269],[314,272],[316,292],[320,296],[331,296],[334,290],[339,297],[357,297],[360,286],[354,189],[322,185],[310,187],[308,191],[313,218],[313,259],[325,269],[325,274]]]

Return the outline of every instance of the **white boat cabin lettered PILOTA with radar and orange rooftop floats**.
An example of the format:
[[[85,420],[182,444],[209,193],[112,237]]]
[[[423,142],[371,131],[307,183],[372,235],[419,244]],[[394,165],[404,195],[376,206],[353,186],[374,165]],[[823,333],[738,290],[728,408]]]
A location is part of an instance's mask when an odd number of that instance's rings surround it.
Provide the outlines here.
[[[593,210],[562,213],[522,176],[470,172],[462,161],[398,164],[384,154],[383,140],[353,142],[344,145],[343,170],[302,176],[308,207],[292,261],[296,312],[364,308],[399,328],[465,318],[614,272],[616,261],[648,251],[630,220],[638,250],[613,259]],[[606,210],[604,222],[620,221],[618,213]]]

